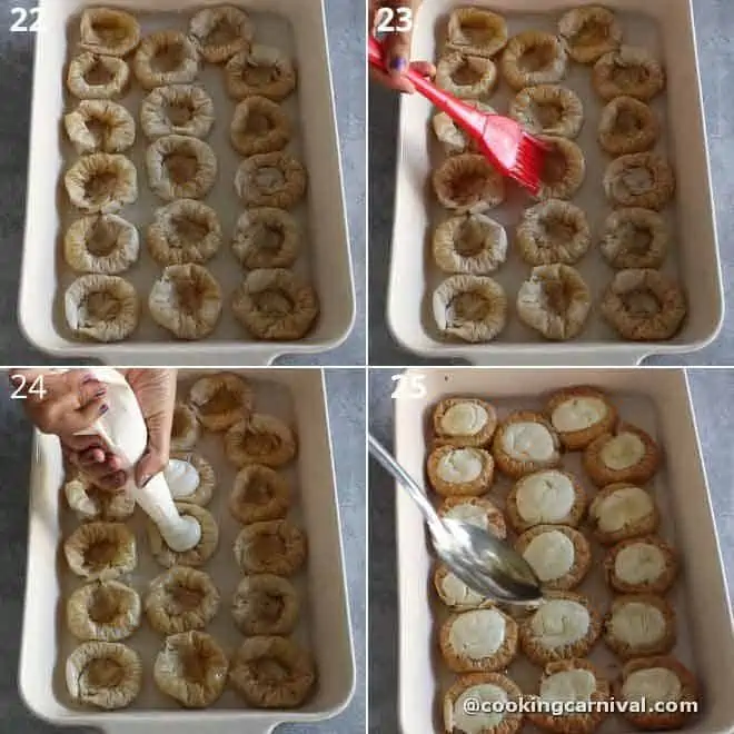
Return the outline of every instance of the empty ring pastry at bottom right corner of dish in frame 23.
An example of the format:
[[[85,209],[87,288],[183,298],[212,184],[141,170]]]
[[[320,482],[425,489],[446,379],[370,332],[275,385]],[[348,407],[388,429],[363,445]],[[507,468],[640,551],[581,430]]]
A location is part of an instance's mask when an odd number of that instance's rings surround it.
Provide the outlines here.
[[[602,299],[602,315],[624,339],[671,339],[688,307],[681,285],[659,270],[619,270]]]

